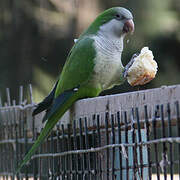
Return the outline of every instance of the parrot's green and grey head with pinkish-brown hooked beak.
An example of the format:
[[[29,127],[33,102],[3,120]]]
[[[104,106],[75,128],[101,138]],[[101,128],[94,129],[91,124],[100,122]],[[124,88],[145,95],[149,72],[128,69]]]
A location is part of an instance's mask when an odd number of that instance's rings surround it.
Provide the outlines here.
[[[96,34],[99,31],[115,37],[132,33],[134,31],[132,13],[122,7],[107,9],[95,19],[85,33]]]

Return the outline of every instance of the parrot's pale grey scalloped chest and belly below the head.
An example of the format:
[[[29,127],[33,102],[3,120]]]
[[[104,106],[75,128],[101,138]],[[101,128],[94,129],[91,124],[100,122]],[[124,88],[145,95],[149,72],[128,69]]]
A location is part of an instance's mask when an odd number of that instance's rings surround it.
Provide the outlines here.
[[[100,85],[102,90],[121,84],[124,69],[121,62],[121,51],[115,45],[99,38],[95,38],[94,47],[96,58],[94,59],[93,83]]]

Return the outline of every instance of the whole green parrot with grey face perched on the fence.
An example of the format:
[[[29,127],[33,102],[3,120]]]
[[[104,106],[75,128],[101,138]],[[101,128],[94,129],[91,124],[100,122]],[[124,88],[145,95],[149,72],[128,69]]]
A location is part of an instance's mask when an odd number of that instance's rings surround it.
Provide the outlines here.
[[[134,31],[131,12],[113,7],[101,13],[76,40],[62,73],[51,93],[39,103],[33,116],[46,110],[46,121],[38,139],[19,164],[16,173],[30,160],[53,127],[82,98],[96,97],[102,91],[125,81],[127,69],[121,62],[123,39]]]

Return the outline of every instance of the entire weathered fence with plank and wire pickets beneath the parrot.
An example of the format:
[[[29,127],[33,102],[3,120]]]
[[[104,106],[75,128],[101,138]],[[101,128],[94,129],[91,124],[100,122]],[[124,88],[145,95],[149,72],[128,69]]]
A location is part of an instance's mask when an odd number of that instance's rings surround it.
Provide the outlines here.
[[[34,103],[0,108],[0,179],[15,168],[43,128]],[[180,178],[180,85],[75,103],[16,179]],[[169,178],[169,177],[168,177]]]

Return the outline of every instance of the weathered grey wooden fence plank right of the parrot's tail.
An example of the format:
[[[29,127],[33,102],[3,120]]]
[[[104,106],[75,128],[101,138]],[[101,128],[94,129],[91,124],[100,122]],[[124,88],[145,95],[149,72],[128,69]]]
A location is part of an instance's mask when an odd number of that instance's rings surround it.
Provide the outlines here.
[[[88,117],[88,126],[93,126],[93,114],[100,114],[100,125],[104,126],[104,113],[110,114],[127,111],[128,122],[131,121],[132,108],[138,107],[140,120],[144,120],[144,106],[147,105],[148,116],[153,118],[156,105],[170,103],[171,116],[175,119],[176,111],[174,102],[180,100],[180,85],[163,86],[156,89],[148,89],[130,93],[122,93],[109,96],[101,96],[96,98],[88,98],[77,101],[73,107],[60,120],[60,123],[71,123],[72,120],[77,120],[80,117]],[[166,114],[165,114],[166,118]],[[123,124],[123,119],[121,120]],[[116,123],[117,124],[117,123]],[[175,124],[175,123],[173,123]],[[66,125],[65,125],[66,126]]]

